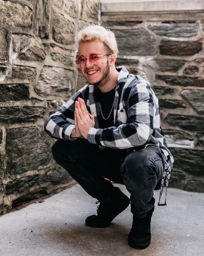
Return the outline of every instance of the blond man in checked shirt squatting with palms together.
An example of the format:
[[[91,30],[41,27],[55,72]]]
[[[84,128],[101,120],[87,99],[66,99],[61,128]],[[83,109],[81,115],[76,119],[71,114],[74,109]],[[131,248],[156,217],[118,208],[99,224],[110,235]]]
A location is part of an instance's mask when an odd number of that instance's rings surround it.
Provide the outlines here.
[[[128,242],[145,249],[151,239],[153,192],[161,183],[161,188],[168,186],[173,163],[158,99],[147,81],[123,66],[115,68],[118,49],[110,30],[88,26],[79,32],[78,43],[76,64],[89,84],[45,121],[45,131],[59,139],[52,154],[100,202],[86,225],[109,226],[131,202]],[[109,180],[124,184],[130,199]]]

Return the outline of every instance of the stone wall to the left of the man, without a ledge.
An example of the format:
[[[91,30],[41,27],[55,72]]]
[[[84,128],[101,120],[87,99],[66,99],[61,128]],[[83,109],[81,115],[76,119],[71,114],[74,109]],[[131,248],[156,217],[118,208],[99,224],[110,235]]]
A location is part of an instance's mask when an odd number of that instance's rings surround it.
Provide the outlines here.
[[[51,155],[44,120],[86,84],[76,31],[99,0],[0,0],[0,214],[73,184]]]

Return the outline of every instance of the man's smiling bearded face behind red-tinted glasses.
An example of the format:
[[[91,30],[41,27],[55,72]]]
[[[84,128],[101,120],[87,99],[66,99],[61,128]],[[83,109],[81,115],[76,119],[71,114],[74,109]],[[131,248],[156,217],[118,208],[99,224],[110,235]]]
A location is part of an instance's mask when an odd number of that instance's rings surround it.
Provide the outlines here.
[[[90,54],[97,53],[99,55],[107,54],[105,46],[102,42],[81,43],[79,45],[79,56],[89,57]],[[97,64],[92,64],[89,58],[86,58],[86,64],[80,68],[83,76],[90,84],[96,84],[98,87],[107,84],[110,80],[110,56],[100,56]]]

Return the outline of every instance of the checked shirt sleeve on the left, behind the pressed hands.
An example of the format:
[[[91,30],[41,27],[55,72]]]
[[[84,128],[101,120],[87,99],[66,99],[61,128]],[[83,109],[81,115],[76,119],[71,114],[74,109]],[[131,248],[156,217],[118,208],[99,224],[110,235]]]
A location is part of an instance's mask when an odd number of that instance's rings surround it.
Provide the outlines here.
[[[85,86],[86,87],[86,86]],[[75,100],[78,97],[84,98],[82,88],[75,93],[71,99],[44,122],[44,129],[52,138],[63,140],[75,140],[70,138],[74,125]]]

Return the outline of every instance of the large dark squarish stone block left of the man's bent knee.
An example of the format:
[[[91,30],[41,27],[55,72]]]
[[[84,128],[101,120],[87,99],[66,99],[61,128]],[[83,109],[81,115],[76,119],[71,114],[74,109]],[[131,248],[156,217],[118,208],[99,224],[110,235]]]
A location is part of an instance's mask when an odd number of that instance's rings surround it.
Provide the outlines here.
[[[55,140],[44,132],[42,126],[7,129],[8,173],[15,175],[48,166],[52,160],[51,147],[54,142]],[[26,183],[24,180],[21,182]],[[15,186],[11,184],[9,189],[13,190]]]

